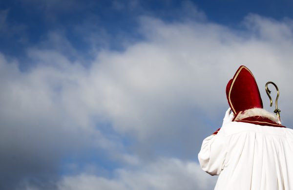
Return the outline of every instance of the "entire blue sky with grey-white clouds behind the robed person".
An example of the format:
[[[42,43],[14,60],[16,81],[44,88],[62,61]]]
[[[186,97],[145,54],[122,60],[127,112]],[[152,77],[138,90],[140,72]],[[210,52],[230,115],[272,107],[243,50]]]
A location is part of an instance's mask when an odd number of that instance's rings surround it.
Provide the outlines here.
[[[211,190],[237,68],[293,126],[293,3],[0,1],[1,190]],[[272,88],[272,91],[273,88]]]

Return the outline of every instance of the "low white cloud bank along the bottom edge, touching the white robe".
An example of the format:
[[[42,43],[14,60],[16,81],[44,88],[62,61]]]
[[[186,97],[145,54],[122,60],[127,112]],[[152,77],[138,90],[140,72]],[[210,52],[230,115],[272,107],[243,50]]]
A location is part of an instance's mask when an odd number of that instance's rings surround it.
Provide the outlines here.
[[[59,190],[210,190],[215,179],[194,162],[161,158],[139,169],[117,169],[114,179],[82,173],[66,176]]]

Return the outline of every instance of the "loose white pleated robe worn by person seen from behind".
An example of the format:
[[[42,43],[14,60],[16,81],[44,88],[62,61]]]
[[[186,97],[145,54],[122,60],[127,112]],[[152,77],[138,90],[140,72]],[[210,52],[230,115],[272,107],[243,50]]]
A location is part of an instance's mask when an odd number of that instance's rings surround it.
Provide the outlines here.
[[[293,130],[230,122],[207,137],[203,170],[219,175],[215,190],[293,190]]]

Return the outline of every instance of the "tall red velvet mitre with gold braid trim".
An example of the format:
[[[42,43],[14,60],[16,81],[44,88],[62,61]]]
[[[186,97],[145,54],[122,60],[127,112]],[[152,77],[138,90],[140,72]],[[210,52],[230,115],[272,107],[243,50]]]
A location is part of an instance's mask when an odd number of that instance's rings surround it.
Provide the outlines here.
[[[259,89],[251,71],[240,66],[226,87],[229,106],[235,117],[244,110],[263,108]],[[235,118],[234,117],[234,118]]]

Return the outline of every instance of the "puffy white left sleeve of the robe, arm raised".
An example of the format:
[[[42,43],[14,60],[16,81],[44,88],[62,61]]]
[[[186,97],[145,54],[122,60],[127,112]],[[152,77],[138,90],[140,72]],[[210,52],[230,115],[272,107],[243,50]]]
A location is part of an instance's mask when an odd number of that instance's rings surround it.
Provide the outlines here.
[[[210,175],[219,175],[224,169],[226,148],[223,130],[220,130],[216,135],[207,137],[198,153],[201,168]]]

